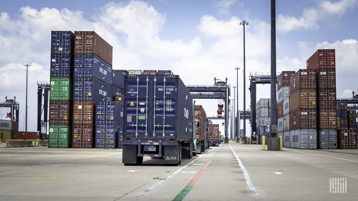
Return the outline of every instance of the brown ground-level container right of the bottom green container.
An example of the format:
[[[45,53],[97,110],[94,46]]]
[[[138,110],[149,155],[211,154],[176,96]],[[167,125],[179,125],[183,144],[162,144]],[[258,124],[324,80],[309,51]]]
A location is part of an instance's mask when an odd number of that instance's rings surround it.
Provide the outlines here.
[[[93,126],[74,124],[72,126],[72,148],[93,148]]]

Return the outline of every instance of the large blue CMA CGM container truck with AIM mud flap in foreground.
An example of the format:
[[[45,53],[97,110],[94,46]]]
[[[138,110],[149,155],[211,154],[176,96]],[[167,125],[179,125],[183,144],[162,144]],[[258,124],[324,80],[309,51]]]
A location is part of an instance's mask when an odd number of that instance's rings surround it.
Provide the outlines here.
[[[193,116],[192,95],[179,76],[125,77],[122,162],[141,164],[143,156],[151,156],[179,165],[183,146],[191,158]]]

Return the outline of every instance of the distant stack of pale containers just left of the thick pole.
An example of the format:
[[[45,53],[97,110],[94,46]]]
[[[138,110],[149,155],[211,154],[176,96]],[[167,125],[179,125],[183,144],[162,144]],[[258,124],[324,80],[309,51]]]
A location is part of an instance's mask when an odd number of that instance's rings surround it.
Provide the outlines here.
[[[271,99],[261,98],[256,103],[256,125],[259,139],[261,136],[266,136],[267,139],[267,126],[271,125]]]

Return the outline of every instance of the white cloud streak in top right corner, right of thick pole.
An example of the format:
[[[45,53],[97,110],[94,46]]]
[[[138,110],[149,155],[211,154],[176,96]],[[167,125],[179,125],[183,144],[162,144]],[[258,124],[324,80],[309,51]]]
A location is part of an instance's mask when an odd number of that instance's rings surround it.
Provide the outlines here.
[[[344,15],[349,8],[357,6],[357,0],[340,0],[335,3],[330,1],[318,1],[318,7],[305,8],[299,17],[279,14],[277,15],[277,31],[287,33],[292,30],[318,30],[320,20],[325,20],[328,15]]]

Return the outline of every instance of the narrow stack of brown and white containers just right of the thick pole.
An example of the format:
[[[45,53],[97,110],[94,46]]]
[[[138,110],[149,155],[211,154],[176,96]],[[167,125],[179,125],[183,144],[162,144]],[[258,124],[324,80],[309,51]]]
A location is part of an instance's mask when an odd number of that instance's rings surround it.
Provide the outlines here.
[[[282,136],[286,147],[290,147],[290,78],[294,74],[295,71],[282,71],[277,78],[277,136]]]

